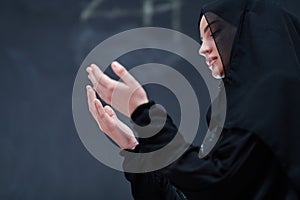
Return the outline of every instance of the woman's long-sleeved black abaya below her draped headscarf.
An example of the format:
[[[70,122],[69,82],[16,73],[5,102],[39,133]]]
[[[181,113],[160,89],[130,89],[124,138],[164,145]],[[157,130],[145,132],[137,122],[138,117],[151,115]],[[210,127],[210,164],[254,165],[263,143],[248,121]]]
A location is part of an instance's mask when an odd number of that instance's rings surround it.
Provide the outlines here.
[[[134,112],[132,119],[136,124],[148,124],[151,105],[153,102]],[[159,108],[155,109],[152,110],[155,123],[150,126],[164,123]],[[176,133],[168,117],[162,131],[155,137],[141,139],[135,152],[154,151],[160,146],[153,144],[164,146]],[[224,129],[215,148],[203,159],[199,158],[199,147],[190,146],[177,161],[161,170],[125,173],[125,176],[138,200],[184,199],[183,195],[190,200],[299,199],[272,151],[255,134],[240,129]]]

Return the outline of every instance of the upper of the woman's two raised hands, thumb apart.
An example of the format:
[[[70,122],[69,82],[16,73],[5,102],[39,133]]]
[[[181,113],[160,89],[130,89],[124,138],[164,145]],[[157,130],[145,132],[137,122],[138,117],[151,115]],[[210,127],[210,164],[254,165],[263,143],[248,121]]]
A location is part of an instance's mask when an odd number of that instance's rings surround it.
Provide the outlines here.
[[[111,79],[95,64],[87,67],[88,78],[93,83],[93,88],[101,99],[122,114],[130,117],[139,105],[148,102],[147,94],[120,63],[113,62],[111,67],[123,82]]]

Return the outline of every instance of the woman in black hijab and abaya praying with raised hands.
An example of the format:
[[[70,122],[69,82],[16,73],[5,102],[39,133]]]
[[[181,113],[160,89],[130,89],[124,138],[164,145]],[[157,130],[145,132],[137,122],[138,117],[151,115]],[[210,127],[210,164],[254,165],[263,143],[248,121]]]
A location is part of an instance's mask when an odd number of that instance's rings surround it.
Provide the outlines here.
[[[125,173],[134,198],[300,199],[299,21],[274,0],[219,0],[202,8],[199,28],[199,53],[205,56],[212,75],[223,79],[226,89],[221,137],[203,159],[198,156],[199,148],[190,146],[163,169]],[[124,81],[118,86],[120,93],[133,94],[128,97],[129,106],[118,102],[113,107],[135,124],[147,125],[154,102],[149,102],[141,87],[134,90],[139,84],[123,66],[114,62],[112,69]],[[96,92],[111,104],[118,83],[95,65],[87,71]],[[177,132],[167,117],[157,135],[137,140],[110,106],[102,107],[90,86],[87,93],[100,129],[122,149],[154,151]],[[160,108],[153,109],[155,123],[149,128],[164,123],[156,115]],[[215,115],[210,120],[217,119]],[[125,163],[130,159],[125,157]]]

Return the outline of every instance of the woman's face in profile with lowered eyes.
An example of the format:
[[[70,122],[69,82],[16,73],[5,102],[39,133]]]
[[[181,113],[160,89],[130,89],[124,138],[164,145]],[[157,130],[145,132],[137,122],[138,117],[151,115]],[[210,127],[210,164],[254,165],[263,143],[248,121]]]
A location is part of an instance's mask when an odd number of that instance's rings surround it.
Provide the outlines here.
[[[199,54],[205,57],[206,64],[212,71],[212,76],[217,79],[223,78],[223,63],[219,55],[219,51],[217,49],[215,40],[204,15],[201,18],[199,29],[200,37],[202,40],[202,45],[199,49]]]

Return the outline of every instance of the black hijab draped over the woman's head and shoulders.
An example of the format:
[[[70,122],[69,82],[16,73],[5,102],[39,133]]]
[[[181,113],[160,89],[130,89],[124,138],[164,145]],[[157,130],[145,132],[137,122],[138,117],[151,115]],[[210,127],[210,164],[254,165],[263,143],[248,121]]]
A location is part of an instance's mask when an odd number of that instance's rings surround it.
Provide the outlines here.
[[[257,134],[299,192],[298,19],[275,0],[218,0],[206,4],[203,15],[225,66],[224,128]]]

